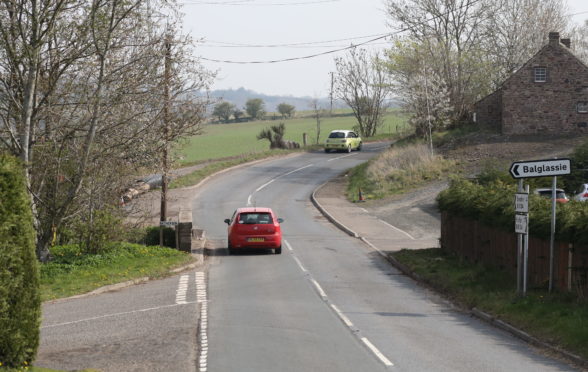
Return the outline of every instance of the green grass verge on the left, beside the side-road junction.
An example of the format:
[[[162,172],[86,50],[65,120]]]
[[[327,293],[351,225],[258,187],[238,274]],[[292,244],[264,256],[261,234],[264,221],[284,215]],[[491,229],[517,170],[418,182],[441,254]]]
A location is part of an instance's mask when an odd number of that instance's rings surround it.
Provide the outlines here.
[[[141,277],[163,277],[169,270],[194,261],[176,249],[113,243],[102,254],[84,255],[75,245],[56,246],[54,259],[41,264],[43,301],[86,293],[96,288]]]

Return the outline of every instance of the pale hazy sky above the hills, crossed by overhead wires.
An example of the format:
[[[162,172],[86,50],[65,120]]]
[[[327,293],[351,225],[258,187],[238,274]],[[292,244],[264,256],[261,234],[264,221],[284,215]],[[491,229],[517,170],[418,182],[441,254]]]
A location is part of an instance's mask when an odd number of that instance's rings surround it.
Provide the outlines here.
[[[383,0],[180,0],[184,31],[203,65],[217,71],[212,89],[245,88],[267,95],[327,97],[335,57],[390,33]],[[588,19],[587,0],[568,0],[569,14]],[[368,49],[386,47],[374,41]],[[271,62],[294,59],[285,62]],[[238,63],[227,63],[231,61]],[[248,63],[263,62],[263,63]]]

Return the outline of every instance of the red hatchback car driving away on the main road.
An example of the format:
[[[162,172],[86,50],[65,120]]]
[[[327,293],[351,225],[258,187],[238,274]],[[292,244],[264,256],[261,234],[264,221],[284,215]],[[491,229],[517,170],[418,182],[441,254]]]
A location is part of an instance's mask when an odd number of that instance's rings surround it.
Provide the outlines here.
[[[225,220],[228,227],[229,254],[244,248],[273,249],[282,253],[283,219],[277,218],[271,208],[239,208]]]

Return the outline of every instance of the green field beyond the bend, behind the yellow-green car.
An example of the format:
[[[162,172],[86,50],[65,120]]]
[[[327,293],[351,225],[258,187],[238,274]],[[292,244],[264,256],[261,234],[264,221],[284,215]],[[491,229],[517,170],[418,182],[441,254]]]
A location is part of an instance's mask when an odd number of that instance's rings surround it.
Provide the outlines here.
[[[316,120],[296,118],[283,120],[286,124],[285,140],[296,141],[302,145],[302,134],[307,133],[308,145],[316,144]],[[177,149],[180,165],[193,164],[210,159],[227,158],[242,154],[256,153],[269,149],[269,142],[257,140],[257,134],[264,128],[277,125],[280,120],[254,121],[234,124],[208,124],[204,133],[191,137]],[[321,118],[319,143],[334,129],[352,129],[356,124],[353,116]],[[399,110],[385,116],[379,135],[394,136],[406,130],[407,116]]]

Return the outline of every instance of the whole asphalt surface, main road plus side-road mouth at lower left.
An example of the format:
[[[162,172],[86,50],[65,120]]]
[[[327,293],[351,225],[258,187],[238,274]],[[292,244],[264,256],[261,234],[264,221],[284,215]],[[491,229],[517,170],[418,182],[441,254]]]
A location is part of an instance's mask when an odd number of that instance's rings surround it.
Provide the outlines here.
[[[318,185],[382,147],[302,154],[212,178],[192,206],[195,226],[216,247],[207,267],[45,304],[35,364],[104,372],[571,370],[456,311],[311,205]],[[227,255],[223,220],[247,204],[285,219],[281,255]]]

